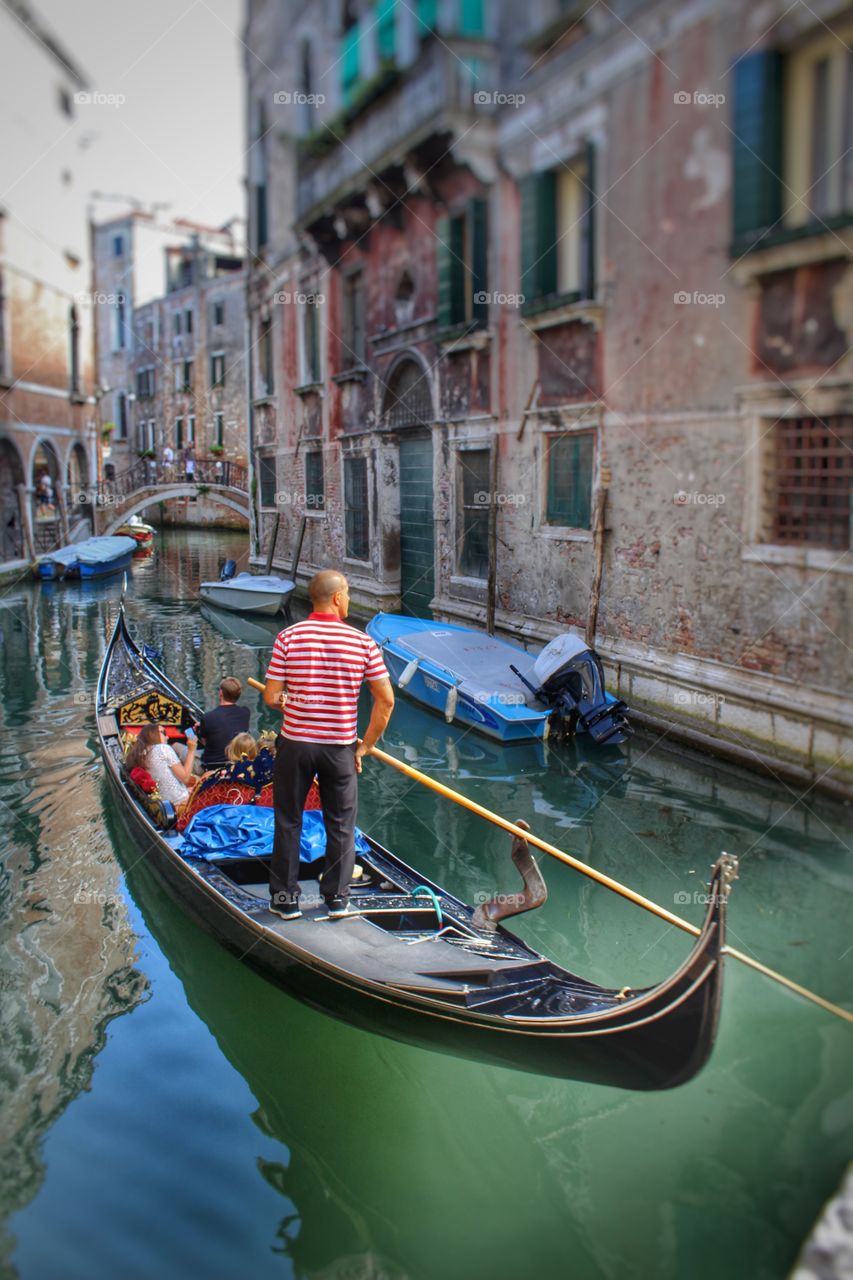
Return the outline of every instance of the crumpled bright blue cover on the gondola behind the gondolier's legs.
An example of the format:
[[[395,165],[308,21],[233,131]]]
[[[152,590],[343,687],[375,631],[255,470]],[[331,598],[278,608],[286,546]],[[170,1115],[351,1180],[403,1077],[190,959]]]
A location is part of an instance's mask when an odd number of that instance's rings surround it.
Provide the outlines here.
[[[263,858],[273,852],[273,809],[255,805],[214,804],[187,823],[181,852],[190,858]],[[356,827],[356,852],[370,846]],[[300,860],[315,863],[325,854],[325,827],[320,809],[302,814]]]

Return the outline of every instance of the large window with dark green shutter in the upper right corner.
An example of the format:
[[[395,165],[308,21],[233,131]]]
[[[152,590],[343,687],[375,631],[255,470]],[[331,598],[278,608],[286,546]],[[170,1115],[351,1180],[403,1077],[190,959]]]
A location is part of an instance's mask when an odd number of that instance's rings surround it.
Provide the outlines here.
[[[853,28],[735,64],[734,251],[853,218]]]

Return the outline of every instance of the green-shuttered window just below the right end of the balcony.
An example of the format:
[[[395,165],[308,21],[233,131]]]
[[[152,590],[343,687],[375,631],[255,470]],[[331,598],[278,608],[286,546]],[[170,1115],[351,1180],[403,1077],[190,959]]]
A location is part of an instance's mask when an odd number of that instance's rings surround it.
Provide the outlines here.
[[[443,328],[460,324],[485,324],[487,206],[475,197],[464,212],[439,218],[438,242],[438,319]]]

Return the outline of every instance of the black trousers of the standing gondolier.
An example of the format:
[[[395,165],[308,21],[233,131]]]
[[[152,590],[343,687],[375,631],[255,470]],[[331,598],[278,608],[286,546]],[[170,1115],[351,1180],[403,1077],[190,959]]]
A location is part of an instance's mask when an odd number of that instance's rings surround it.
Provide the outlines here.
[[[320,878],[320,893],[325,899],[348,897],[359,809],[355,749],[355,742],[351,746],[329,746],[325,742],[297,742],[279,733],[273,773],[275,833],[269,874],[272,895],[298,897],[302,808],[316,774],[325,826],[325,869]]]

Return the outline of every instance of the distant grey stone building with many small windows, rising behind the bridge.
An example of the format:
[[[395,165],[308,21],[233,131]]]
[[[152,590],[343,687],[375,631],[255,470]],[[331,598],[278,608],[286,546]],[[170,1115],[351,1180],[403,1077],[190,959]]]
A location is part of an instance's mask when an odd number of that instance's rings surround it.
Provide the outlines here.
[[[133,212],[93,229],[104,467],[246,461],[246,278],[232,230]]]

